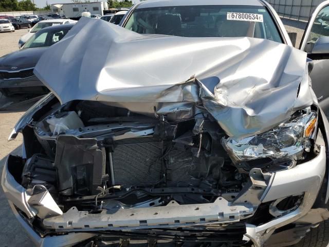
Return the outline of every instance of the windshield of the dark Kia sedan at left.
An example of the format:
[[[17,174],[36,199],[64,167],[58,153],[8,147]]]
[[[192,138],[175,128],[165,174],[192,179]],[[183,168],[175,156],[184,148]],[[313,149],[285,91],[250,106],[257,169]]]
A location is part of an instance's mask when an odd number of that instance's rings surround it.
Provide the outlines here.
[[[47,47],[59,42],[68,32],[68,28],[39,31],[26,42],[23,48]]]

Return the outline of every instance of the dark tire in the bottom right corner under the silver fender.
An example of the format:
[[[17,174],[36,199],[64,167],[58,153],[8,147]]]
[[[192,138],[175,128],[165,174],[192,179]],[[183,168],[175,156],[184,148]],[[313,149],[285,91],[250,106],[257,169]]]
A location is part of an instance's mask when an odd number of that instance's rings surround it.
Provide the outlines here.
[[[326,247],[329,244],[329,220],[322,221],[318,227],[310,228],[306,236],[293,247]]]

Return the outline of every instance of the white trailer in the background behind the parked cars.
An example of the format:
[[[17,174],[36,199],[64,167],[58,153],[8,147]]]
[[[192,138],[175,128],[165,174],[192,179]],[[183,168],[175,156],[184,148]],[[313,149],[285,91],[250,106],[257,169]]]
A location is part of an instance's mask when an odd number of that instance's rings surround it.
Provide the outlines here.
[[[68,4],[53,4],[53,12],[59,13],[61,16],[70,18],[81,17],[82,12],[90,12],[90,14],[103,15],[103,10],[107,10],[106,2],[92,2],[92,3],[68,3]]]

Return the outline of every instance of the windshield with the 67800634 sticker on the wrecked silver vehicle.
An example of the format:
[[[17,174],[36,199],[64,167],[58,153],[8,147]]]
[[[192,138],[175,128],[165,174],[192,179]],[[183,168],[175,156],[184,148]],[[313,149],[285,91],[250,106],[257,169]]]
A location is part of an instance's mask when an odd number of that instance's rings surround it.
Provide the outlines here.
[[[265,7],[177,6],[135,9],[126,29],[182,37],[254,37],[282,43]]]

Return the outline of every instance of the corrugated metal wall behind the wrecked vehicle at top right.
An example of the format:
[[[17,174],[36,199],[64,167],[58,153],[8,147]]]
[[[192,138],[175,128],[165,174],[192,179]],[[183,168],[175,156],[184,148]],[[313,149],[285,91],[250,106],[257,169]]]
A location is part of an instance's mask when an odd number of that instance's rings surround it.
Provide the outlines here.
[[[308,21],[314,9],[324,0],[267,0],[280,16]]]

